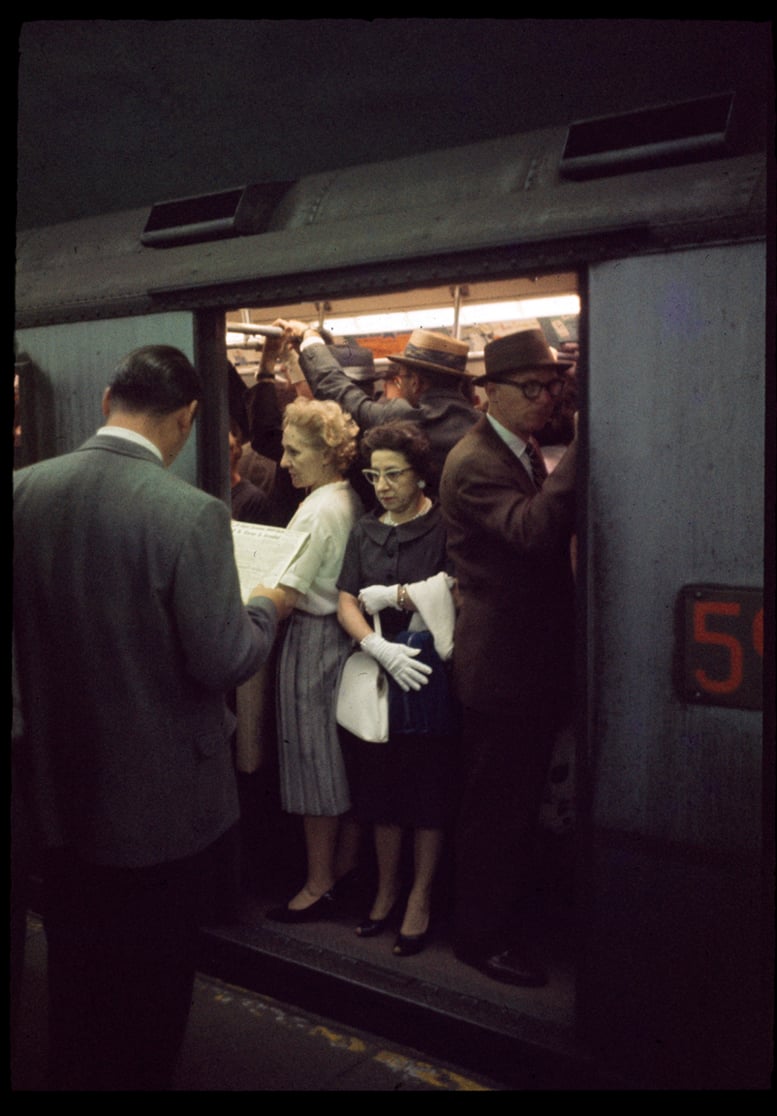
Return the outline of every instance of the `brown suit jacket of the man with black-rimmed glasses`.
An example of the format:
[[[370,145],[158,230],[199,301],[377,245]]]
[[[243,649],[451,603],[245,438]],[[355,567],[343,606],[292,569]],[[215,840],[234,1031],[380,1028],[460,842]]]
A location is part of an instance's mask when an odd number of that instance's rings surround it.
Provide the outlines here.
[[[540,491],[485,416],[448,455],[440,502],[461,598],[453,672],[470,709],[566,718],[576,452],[573,442]]]

